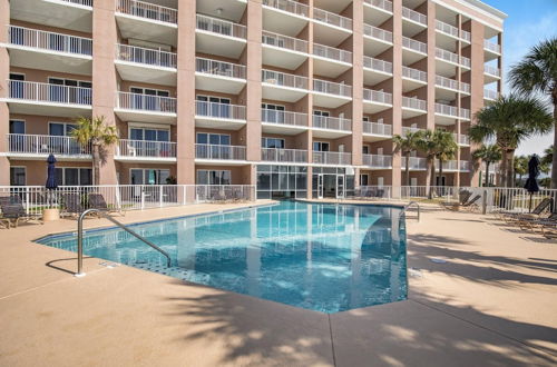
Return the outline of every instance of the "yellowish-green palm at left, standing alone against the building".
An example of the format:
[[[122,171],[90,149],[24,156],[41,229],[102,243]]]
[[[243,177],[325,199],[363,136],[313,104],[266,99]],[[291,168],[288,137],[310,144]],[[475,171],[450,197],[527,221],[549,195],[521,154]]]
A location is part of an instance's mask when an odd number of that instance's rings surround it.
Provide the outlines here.
[[[105,117],[92,119],[80,117],[76,120],[78,127],[71,136],[82,147],[91,147],[92,152],[92,184],[99,185],[100,165],[106,161],[106,149],[118,142],[118,130],[108,126]]]

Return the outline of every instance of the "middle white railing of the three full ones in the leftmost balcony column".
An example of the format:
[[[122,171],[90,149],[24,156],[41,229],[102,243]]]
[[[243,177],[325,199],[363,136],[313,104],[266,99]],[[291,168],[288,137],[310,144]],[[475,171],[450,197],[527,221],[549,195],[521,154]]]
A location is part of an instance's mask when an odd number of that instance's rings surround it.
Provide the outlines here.
[[[10,99],[81,106],[90,106],[92,100],[92,90],[90,88],[20,80],[9,80],[8,85]]]

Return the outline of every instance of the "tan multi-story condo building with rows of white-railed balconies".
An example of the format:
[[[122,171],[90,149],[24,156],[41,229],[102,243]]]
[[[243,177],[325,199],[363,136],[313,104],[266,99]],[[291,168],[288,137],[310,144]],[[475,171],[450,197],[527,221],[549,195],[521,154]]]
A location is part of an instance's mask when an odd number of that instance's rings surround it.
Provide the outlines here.
[[[120,140],[100,184],[400,186],[392,136],[442,128],[438,182],[477,185],[467,131],[501,91],[505,14],[478,0],[0,0],[0,185],[91,184],[69,132]],[[170,179],[169,179],[170,178]],[[422,153],[411,185],[428,182]]]

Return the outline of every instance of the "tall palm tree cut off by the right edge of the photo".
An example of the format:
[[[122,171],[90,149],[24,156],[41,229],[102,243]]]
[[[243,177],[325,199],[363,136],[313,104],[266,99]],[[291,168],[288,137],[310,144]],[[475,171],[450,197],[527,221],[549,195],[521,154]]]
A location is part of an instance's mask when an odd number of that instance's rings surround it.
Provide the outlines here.
[[[557,37],[532,47],[522,61],[510,69],[510,85],[520,92],[543,93],[554,105],[554,149],[557,147]],[[557,155],[553,155],[551,188],[557,188]]]

